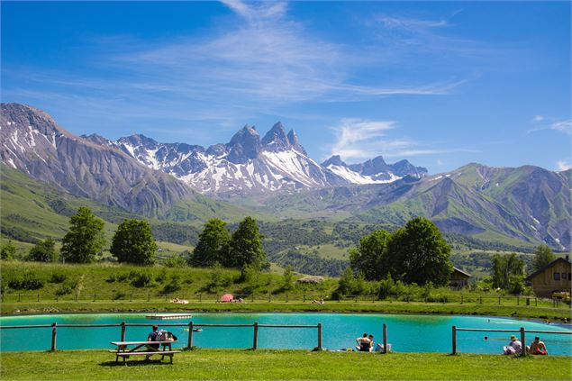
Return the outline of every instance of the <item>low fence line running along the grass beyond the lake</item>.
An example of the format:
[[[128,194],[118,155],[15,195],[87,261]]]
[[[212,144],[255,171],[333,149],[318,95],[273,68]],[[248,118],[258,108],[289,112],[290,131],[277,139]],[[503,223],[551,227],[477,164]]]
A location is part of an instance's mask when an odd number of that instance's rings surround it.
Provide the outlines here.
[[[21,303],[21,302],[36,302],[42,301],[68,301],[68,302],[141,302],[141,301],[164,301],[168,302],[175,297],[178,299],[185,299],[189,302],[198,303],[213,303],[220,302],[221,296],[227,293],[220,294],[184,294],[184,293],[86,293],[83,294],[68,294],[68,295],[53,295],[42,293],[13,293],[0,295],[2,303]],[[336,295],[336,297],[328,298],[325,294],[243,294],[234,295],[235,298],[241,298],[246,302],[264,302],[264,303],[307,303],[319,302],[322,299],[328,302],[348,302],[354,303],[426,303],[426,304],[497,304],[497,305],[534,305],[543,307],[567,307],[568,304],[558,299],[541,299],[535,296],[502,296],[502,295],[474,295],[474,294],[460,294],[460,295],[387,295],[379,297],[378,295]]]

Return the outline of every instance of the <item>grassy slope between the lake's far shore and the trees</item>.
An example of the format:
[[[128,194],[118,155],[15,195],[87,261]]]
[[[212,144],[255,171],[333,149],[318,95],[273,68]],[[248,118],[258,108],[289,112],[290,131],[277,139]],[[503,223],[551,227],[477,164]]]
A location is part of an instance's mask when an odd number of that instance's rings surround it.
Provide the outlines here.
[[[2,261],[4,290],[1,313],[73,313],[99,311],[235,311],[338,313],[454,313],[519,316],[540,319],[569,317],[569,306],[549,300],[503,296],[492,292],[454,291],[406,286],[399,295],[332,297],[338,279],[319,285],[294,282],[284,289],[284,277],[273,272],[241,279],[235,269],[142,268],[113,263],[91,265]],[[295,276],[294,279],[301,276]],[[17,289],[16,286],[33,286]],[[374,285],[375,286],[375,285]],[[372,288],[373,290],[373,288]],[[244,304],[216,303],[224,293],[243,295]],[[171,304],[170,299],[189,304]],[[325,304],[312,304],[323,297]],[[499,303],[500,302],[500,303]],[[555,308],[556,307],[556,308]]]

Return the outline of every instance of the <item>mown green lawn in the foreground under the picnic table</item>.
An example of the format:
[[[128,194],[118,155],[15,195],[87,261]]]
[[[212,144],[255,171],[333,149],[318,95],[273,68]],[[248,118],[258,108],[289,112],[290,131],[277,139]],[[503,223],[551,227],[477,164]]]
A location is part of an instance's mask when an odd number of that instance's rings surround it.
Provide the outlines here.
[[[197,349],[159,359],[115,364],[106,350],[3,353],[3,380],[117,379],[399,379],[569,380],[570,358],[434,353],[309,352]]]

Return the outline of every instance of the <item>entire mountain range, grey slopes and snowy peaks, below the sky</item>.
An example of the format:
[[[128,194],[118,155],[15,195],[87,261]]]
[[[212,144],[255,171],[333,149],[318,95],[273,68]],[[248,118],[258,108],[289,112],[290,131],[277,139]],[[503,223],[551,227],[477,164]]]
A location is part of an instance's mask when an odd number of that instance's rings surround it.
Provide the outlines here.
[[[443,231],[571,247],[572,170],[468,164],[429,176],[407,160],[387,164],[380,156],[319,164],[280,122],[262,138],[246,125],[228,143],[204,148],[141,134],[117,141],[75,136],[33,107],[1,108],[6,167],[129,213],[187,221],[224,210],[391,226],[423,215]]]

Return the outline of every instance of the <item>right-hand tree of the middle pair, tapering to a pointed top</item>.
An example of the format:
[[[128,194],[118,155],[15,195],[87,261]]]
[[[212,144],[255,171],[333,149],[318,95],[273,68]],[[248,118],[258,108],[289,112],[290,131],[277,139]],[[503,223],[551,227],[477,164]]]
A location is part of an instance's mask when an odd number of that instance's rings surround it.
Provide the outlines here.
[[[250,265],[258,270],[268,266],[266,252],[262,247],[262,235],[255,219],[245,217],[232,233],[229,255],[222,264],[232,268]]]

